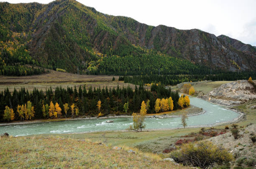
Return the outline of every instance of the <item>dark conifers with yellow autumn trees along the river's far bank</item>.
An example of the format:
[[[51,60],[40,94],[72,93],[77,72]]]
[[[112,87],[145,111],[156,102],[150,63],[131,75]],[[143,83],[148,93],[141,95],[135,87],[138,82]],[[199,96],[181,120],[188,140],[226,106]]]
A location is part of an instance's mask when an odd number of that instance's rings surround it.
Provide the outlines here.
[[[161,99],[163,102],[156,102]],[[95,88],[85,86],[50,87],[45,92],[36,88],[28,92],[24,87],[13,93],[8,88],[0,93],[0,121],[42,119],[77,116],[103,116],[108,114],[132,114],[140,111],[141,102],[146,102],[147,112],[179,109],[179,93],[164,86],[144,89],[135,87]],[[167,104],[166,104],[167,101]],[[167,108],[166,108],[167,107]]]

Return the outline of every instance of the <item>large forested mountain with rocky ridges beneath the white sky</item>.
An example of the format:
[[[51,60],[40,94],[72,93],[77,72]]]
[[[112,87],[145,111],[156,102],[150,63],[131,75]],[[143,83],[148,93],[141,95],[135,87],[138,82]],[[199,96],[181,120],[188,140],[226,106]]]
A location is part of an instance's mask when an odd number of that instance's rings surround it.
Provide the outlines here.
[[[75,0],[46,5],[0,2],[0,25],[0,51],[14,55],[19,50],[17,62],[50,69],[100,74],[205,73],[209,67],[256,70],[255,52],[234,47],[222,36],[149,26]],[[25,59],[25,54],[31,58]]]

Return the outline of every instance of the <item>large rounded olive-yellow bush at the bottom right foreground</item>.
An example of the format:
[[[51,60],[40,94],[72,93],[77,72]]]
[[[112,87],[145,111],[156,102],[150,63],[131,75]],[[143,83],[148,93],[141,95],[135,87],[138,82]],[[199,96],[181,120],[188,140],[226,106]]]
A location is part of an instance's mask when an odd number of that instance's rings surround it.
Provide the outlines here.
[[[176,152],[172,154],[176,162],[202,169],[212,168],[215,163],[226,164],[233,159],[226,149],[219,148],[209,141],[182,144],[180,150]]]

